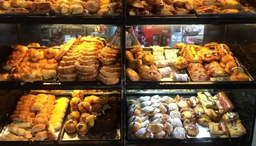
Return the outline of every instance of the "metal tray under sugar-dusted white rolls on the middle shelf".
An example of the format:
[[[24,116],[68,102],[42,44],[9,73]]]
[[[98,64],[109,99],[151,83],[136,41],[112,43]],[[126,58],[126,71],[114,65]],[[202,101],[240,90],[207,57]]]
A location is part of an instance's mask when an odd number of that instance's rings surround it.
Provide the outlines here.
[[[132,48],[129,48],[129,49],[132,49]],[[164,49],[176,49],[176,50],[178,50],[177,48],[172,48],[172,47],[164,47]],[[152,50],[153,50],[153,47],[145,47],[143,49],[143,51],[151,51],[151,54],[152,54]],[[178,53],[178,52],[179,51],[177,51],[177,57],[180,56],[180,53]],[[137,82],[137,83],[150,83],[150,82],[153,82],[153,84],[154,83],[165,83],[165,82],[189,82],[189,79],[187,79],[187,81],[173,81],[174,73],[185,74],[186,72],[185,72],[185,69],[177,69],[174,66],[169,66],[169,67],[172,69],[172,73],[169,76],[167,76],[167,77],[161,78],[160,81],[149,81],[149,80],[148,81],[146,81],[146,80],[145,81],[144,80],[142,80],[142,81],[132,81],[129,78],[127,78],[127,81],[128,82]]]

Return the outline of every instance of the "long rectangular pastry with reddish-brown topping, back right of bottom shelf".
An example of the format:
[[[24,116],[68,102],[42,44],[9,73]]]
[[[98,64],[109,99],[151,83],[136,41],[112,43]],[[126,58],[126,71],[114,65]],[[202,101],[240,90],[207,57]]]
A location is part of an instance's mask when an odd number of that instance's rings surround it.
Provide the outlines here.
[[[227,111],[233,110],[234,105],[231,103],[229,97],[227,97],[225,92],[219,92],[214,97],[217,98],[217,106],[219,109],[219,114],[223,114]]]

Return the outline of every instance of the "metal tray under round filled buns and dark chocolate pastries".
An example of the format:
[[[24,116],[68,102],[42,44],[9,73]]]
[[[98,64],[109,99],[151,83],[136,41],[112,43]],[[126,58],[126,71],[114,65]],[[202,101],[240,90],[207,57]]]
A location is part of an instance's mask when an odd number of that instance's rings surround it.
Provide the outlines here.
[[[90,95],[94,95],[94,94],[91,93]],[[106,95],[106,94],[101,93],[100,95]],[[111,95],[114,96],[115,94],[110,94],[110,96]],[[121,100],[120,94],[118,94],[118,97],[120,97],[120,100]],[[121,107],[121,101],[120,101],[120,107]],[[68,110],[68,112],[66,112],[66,114],[67,113],[70,114],[71,113],[70,110],[71,109],[69,108],[69,110]],[[65,122],[67,122],[67,117],[64,120],[65,120]],[[64,120],[63,120],[63,126],[65,124]],[[118,123],[118,126],[117,126],[115,132],[113,132],[112,134],[104,134],[104,133],[102,133],[102,135],[100,137],[91,137],[89,135],[90,128],[89,128],[89,132],[86,135],[78,135],[76,132],[74,132],[74,133],[67,133],[67,132],[65,132],[65,130],[63,128],[63,133],[62,133],[62,136],[61,136],[61,141],[118,140],[118,139],[121,139],[121,132],[120,132],[120,128],[121,127],[120,126],[121,126],[121,117],[119,119],[119,123]]]

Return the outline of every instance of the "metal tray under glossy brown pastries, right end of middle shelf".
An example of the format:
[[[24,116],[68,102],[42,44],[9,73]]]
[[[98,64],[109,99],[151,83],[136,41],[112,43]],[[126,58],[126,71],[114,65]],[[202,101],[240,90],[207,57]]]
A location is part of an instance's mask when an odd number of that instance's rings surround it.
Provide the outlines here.
[[[249,74],[248,70],[245,69],[245,68],[243,68],[243,69],[245,70],[245,73],[248,75],[250,81],[254,81],[253,77],[251,76],[251,74]],[[192,78],[192,76],[191,76],[191,74],[189,72],[189,69],[188,69],[188,75],[189,75],[190,80],[193,81],[193,82],[223,82],[223,81],[225,81],[225,82],[238,82],[238,81],[231,81],[230,80],[230,75],[229,76],[225,76],[225,77],[224,76],[215,76],[215,77],[211,77],[210,76],[210,81],[195,81]]]

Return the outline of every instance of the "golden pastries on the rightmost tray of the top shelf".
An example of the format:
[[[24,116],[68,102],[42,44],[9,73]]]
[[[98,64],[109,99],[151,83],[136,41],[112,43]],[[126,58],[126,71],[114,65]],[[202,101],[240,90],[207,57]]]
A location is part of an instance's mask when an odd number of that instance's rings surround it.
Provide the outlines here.
[[[195,0],[197,13],[239,13],[244,7],[236,0]]]

